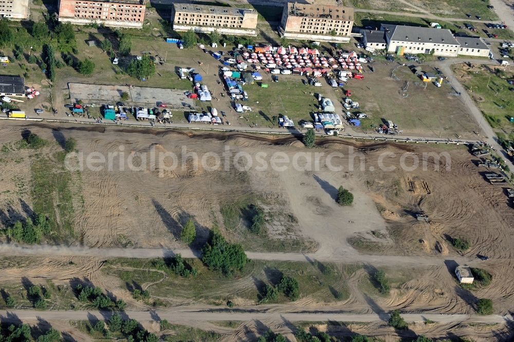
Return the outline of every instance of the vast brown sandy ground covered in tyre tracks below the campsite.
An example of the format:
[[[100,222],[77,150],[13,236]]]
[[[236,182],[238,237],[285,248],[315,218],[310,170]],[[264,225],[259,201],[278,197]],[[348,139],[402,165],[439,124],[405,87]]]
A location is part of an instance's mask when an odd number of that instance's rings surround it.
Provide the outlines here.
[[[9,122],[0,127],[3,142],[20,139],[24,128],[30,128],[48,140],[54,139],[56,131],[53,129],[57,129],[50,124]],[[413,275],[411,280],[392,291],[391,296],[370,298],[361,288],[362,279],[367,277],[361,269],[348,279],[350,298],[332,304],[332,309],[366,314],[393,309],[470,314],[473,312],[470,303],[476,298],[493,299],[495,313],[505,314],[512,308],[510,237],[514,213],[503,189],[483,179],[481,173],[486,169],[477,168],[465,149],[392,143],[359,145],[347,140],[323,139],[318,142],[318,149],[306,150],[293,136],[252,137],[237,133],[219,135],[72,125],[60,127],[59,132],[77,139],[78,150],[86,155],[123,151],[128,156],[131,152],[139,152],[133,158],[134,163],[148,164],[148,168],[139,171],[129,170],[126,165],[125,170],[119,170],[115,163],[112,171],[104,168],[82,173],[84,210],[78,212],[75,226],[81,239],[71,241],[71,246],[84,244],[108,251],[108,247],[119,246],[121,240],[130,240],[136,247],[184,247],[177,238],[185,220],[194,218],[199,241],[204,241],[213,221],[223,223],[220,208],[225,202],[253,193],[268,213],[270,210],[279,213],[275,214],[277,218],[267,222],[270,239],[314,240],[320,259],[351,255],[355,258],[352,260],[359,260],[362,256],[361,260],[373,264],[373,260],[380,258],[397,258],[390,260],[399,260],[396,265]],[[212,154],[206,159],[209,163],[198,168],[194,167],[191,156],[186,157],[188,153],[196,152],[201,159],[207,152],[222,153],[226,148],[234,153],[227,170],[208,170],[213,165],[213,159],[209,159]],[[52,145],[44,153],[59,149]],[[178,160],[184,157],[185,163],[175,170],[166,169],[170,160],[168,164],[158,161],[145,164],[142,153],[150,151],[173,152]],[[238,152],[248,153],[251,157],[264,153],[263,160],[268,164],[271,158],[277,160],[287,156],[292,160],[296,156],[298,168],[282,163],[279,165],[284,166],[282,171],[260,170],[254,161],[252,168],[238,170],[234,165],[241,167],[241,164],[233,161]],[[272,156],[276,152],[281,154]],[[319,157],[318,169],[305,170],[304,160],[309,156],[305,152],[324,153]],[[331,161],[327,160],[329,153],[336,152],[339,154]],[[354,157],[350,157],[351,152]],[[427,152],[447,153],[451,162],[446,157],[435,161],[424,154]],[[11,217],[24,215],[24,208],[31,206],[30,183],[24,188],[16,183],[16,177],[30,179],[31,153],[29,150],[2,153],[5,160],[0,187],[9,191],[1,192],[0,205],[2,212]],[[14,158],[21,160],[15,163]],[[402,158],[407,160],[407,165],[411,165],[409,160],[418,158],[420,165],[426,164],[426,168],[384,171],[379,167],[379,161],[383,167],[397,167]],[[220,156],[222,165],[227,159]],[[343,169],[328,170],[330,162],[343,166]],[[446,169],[449,164],[451,167]],[[334,196],[340,185],[354,193],[353,206],[340,207],[335,203]],[[430,222],[416,221],[413,214],[419,211],[425,212]],[[289,229],[280,229],[280,213],[293,215],[296,224]],[[247,237],[239,230],[227,231],[223,224],[221,226],[229,240],[242,241]],[[459,256],[445,235],[468,239],[471,249],[463,257]],[[435,249],[437,241],[444,246],[443,254]],[[476,254],[491,258],[485,263],[474,259],[473,263],[493,274],[493,283],[470,293],[457,286],[451,272],[454,260],[473,260]],[[272,254],[270,256],[273,258]],[[423,266],[401,263],[401,260],[413,257],[437,262]],[[99,272],[101,259],[74,258],[74,264],[69,265],[65,258],[48,257],[38,265],[5,269],[0,283],[15,282],[22,275],[51,279],[56,283],[87,277],[116,296],[126,298],[134,310],[149,309],[130,300],[119,279]],[[394,268],[394,264],[390,266]],[[316,310],[320,305],[325,304],[302,298],[287,309]]]

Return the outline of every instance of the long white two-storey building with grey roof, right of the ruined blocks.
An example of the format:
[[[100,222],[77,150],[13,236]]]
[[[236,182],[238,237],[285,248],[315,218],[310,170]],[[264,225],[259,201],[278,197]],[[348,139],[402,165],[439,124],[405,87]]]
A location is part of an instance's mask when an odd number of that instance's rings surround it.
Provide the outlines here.
[[[430,27],[382,24],[386,32],[388,51],[397,55],[404,53],[431,53],[434,56],[457,56],[459,43],[450,30]]]

